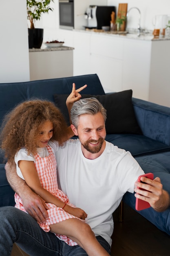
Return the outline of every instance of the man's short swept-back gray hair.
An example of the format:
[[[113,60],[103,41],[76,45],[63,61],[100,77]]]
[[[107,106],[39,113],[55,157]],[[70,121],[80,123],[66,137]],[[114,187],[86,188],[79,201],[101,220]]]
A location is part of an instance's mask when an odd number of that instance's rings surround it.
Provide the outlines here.
[[[105,122],[106,109],[96,98],[80,99],[76,101],[71,108],[71,122],[77,129],[80,115],[95,115],[98,112],[101,112]]]

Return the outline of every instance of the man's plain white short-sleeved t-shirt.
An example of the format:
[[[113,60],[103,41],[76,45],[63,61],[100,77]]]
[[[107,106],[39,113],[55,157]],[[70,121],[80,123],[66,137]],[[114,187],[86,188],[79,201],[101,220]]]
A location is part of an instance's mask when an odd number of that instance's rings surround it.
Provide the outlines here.
[[[126,191],[134,192],[135,181],[144,171],[129,152],[107,141],[102,155],[93,160],[84,157],[79,139],[69,139],[55,155],[61,190],[88,214],[86,223],[95,235],[111,246],[112,213]]]

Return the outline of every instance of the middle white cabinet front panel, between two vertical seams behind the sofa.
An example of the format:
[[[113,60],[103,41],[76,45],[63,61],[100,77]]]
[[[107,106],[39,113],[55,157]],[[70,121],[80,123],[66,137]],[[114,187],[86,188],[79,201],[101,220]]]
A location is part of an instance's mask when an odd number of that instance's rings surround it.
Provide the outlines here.
[[[122,85],[123,45],[119,38],[93,34],[91,36],[91,72],[97,73],[105,92],[119,91]]]

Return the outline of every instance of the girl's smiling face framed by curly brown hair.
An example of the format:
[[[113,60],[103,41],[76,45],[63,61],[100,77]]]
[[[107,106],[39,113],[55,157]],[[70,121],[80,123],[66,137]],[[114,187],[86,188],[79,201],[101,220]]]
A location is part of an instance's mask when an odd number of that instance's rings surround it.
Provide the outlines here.
[[[37,139],[37,147],[45,148],[49,140],[53,136],[53,123],[46,121],[40,128],[39,136]]]

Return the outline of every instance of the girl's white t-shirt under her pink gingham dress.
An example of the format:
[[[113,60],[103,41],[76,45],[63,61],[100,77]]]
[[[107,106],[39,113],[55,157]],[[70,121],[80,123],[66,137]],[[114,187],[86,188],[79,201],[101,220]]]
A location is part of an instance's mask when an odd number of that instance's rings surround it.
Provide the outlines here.
[[[51,146],[51,149],[53,150],[53,153],[55,154],[55,152],[58,151],[58,142],[57,141],[49,141],[49,146]],[[38,154],[41,156],[41,157],[47,157],[49,155],[49,152],[47,150],[47,148],[38,148],[37,149],[38,151]],[[26,161],[33,161],[35,162],[35,158],[33,157],[32,154],[28,155],[27,151],[26,151],[26,148],[21,148],[18,153],[16,153],[15,155],[15,164],[17,166],[17,174],[20,178],[22,178],[24,180],[24,177],[22,175],[22,172],[18,166],[18,162],[20,160],[26,160]]]

